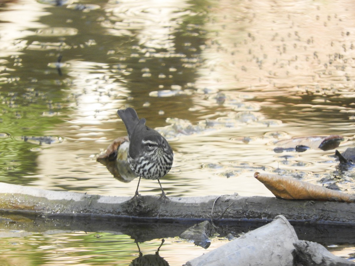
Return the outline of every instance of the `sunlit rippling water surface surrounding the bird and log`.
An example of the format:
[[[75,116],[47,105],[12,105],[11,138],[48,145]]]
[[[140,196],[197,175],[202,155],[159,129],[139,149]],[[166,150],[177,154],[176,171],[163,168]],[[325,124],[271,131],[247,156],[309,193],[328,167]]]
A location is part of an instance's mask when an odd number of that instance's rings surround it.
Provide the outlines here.
[[[334,150],[280,154],[274,148],[280,139],[331,134],[345,137],[340,152],[354,146],[354,25],[352,1],[1,2],[0,180],[133,195],[137,179],[119,182],[96,162],[126,134],[116,111],[127,106],[174,150],[173,169],[162,179],[168,196],[272,196],[253,178],[256,171],[313,183],[332,178],[338,174]],[[193,130],[171,131],[177,120]],[[55,138],[40,145],[23,136]],[[337,184],[355,193],[354,172]],[[140,193],[159,194],[157,181],[142,180]],[[11,264],[19,249],[44,250],[51,242],[49,249],[62,254],[69,252],[65,244],[56,245],[81,237],[89,246],[75,245],[70,259],[40,263],[102,265],[85,258],[96,254],[97,243],[115,238],[115,246],[104,245],[114,250],[129,239],[78,232],[2,242]],[[129,243],[120,260],[127,264],[137,255]],[[162,256],[170,248],[193,256],[166,255],[170,265],[204,252],[182,243],[167,240]],[[345,250],[341,256],[349,257],[355,249]],[[28,265],[38,260],[28,256]]]

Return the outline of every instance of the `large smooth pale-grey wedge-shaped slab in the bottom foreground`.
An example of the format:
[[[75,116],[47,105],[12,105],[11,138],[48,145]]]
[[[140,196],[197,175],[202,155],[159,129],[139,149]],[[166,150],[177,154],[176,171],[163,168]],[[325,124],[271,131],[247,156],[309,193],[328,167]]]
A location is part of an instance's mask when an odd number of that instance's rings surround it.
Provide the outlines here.
[[[260,228],[188,261],[185,266],[293,265],[294,228],[282,215]]]

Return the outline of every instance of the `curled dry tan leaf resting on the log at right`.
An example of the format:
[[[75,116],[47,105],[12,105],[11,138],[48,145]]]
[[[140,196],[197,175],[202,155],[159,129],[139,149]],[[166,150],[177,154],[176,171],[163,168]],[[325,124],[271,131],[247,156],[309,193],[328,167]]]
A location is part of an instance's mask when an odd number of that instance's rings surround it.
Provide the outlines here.
[[[355,202],[355,196],[277,174],[254,173],[277,198]]]

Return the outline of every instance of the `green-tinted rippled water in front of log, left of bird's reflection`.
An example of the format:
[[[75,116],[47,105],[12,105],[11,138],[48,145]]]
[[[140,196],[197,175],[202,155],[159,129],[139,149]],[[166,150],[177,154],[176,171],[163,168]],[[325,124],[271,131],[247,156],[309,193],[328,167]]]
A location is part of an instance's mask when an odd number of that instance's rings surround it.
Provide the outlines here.
[[[137,245],[127,235],[77,232],[0,238],[1,265],[128,265],[135,256]]]

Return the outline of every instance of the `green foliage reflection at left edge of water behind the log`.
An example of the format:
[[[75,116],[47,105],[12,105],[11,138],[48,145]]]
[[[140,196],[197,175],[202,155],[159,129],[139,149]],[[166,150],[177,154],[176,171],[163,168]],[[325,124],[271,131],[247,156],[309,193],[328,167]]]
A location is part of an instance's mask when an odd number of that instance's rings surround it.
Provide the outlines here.
[[[22,74],[21,74],[22,75]],[[19,78],[19,79],[22,79]],[[23,79],[27,79],[23,77]],[[47,131],[65,117],[59,89],[44,86],[42,82],[15,81],[0,89],[0,181],[28,184],[24,175],[36,172],[36,144],[26,143],[24,136],[46,136]]]

